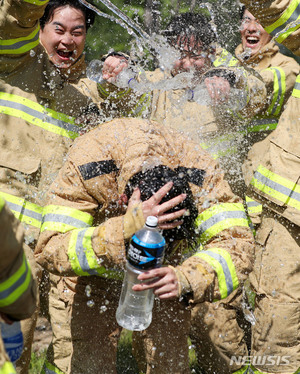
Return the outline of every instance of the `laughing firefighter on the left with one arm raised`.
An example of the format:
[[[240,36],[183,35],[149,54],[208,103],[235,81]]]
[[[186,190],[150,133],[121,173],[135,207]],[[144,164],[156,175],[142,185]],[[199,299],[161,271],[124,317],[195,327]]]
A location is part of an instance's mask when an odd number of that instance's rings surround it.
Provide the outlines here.
[[[44,194],[82,131],[75,119],[93,103],[103,119],[111,114],[96,83],[85,77],[83,50],[93,12],[77,0],[47,3],[4,0],[0,7],[0,194],[24,224],[26,254],[38,278],[32,250]],[[34,326],[22,325],[27,349],[18,370],[26,374]]]

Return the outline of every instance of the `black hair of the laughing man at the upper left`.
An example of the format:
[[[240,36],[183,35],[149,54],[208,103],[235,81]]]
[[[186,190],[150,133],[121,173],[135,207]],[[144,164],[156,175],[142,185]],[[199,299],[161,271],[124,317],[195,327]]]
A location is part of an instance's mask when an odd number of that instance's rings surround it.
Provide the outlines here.
[[[91,2],[89,1],[89,3]],[[78,0],[50,0],[46,6],[43,16],[40,18],[41,29],[43,30],[46,23],[48,23],[52,19],[53,13],[57,8],[65,6],[70,6],[71,8],[79,9],[82,11],[85,16],[86,30],[88,30],[89,27],[94,24],[95,13],[81,4]]]

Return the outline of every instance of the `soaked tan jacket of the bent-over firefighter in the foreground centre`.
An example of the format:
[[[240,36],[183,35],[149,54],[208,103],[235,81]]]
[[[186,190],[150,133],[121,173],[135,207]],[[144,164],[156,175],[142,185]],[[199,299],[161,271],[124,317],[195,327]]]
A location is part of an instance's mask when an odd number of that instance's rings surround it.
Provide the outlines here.
[[[243,204],[206,151],[148,120],[116,119],[76,140],[49,191],[37,262],[54,274],[78,277],[65,278],[72,289],[74,283],[97,285],[101,277],[119,277],[125,244],[145,221],[141,206],[125,214],[117,201],[132,175],[159,164],[182,167],[199,211],[204,250],[196,250],[180,274],[195,301],[227,297],[252,267]]]

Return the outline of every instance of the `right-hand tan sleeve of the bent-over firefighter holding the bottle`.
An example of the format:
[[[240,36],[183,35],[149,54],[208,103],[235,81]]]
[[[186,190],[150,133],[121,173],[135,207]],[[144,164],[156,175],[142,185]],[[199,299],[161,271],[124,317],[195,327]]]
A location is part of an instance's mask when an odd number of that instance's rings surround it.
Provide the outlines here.
[[[191,293],[193,302],[224,299],[252,270],[252,232],[241,199],[232,193],[218,165],[196,146],[188,147],[186,143],[181,148],[185,164],[192,168],[198,206],[196,249],[176,268],[182,293]],[[193,180],[195,168],[202,170],[202,184],[199,172]]]

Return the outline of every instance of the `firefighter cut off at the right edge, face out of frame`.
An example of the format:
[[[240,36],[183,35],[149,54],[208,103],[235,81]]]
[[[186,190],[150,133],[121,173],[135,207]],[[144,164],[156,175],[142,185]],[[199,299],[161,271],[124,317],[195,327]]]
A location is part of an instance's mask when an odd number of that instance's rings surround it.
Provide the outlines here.
[[[299,0],[242,2],[275,41],[299,56]],[[298,75],[277,128],[253,146],[244,166],[247,194],[263,211],[250,276],[256,293],[251,348],[256,360],[241,373],[299,372],[299,87]]]

